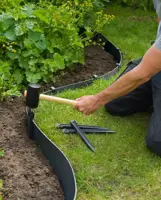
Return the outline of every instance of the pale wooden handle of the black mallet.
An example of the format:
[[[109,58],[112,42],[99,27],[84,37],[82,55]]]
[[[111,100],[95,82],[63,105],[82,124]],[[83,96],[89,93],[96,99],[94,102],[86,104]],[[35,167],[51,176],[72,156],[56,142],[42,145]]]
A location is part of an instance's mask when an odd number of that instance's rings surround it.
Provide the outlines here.
[[[26,95],[27,95],[27,91],[25,91],[25,93],[24,93],[24,96],[26,96]],[[70,104],[73,106],[76,104],[76,101],[74,101],[74,100],[60,98],[60,97],[54,97],[54,96],[49,96],[49,95],[44,95],[44,94],[40,94],[39,99],[63,103],[63,104]]]

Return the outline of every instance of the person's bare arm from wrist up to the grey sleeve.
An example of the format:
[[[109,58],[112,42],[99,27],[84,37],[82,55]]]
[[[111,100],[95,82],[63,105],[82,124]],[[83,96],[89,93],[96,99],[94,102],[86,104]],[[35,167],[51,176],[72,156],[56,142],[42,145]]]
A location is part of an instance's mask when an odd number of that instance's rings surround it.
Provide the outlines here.
[[[98,93],[99,104],[104,105],[133,91],[161,70],[161,51],[154,46],[145,54],[142,62],[120,77],[111,86]]]

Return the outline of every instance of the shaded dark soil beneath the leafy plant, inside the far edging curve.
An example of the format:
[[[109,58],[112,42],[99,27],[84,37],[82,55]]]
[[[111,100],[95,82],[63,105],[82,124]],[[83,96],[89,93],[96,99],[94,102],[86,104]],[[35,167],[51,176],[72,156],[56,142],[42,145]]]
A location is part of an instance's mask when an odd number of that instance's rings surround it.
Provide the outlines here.
[[[103,75],[116,67],[113,56],[100,46],[85,48],[85,64],[76,64],[71,68],[59,71],[55,74],[55,83],[46,86],[59,87],[71,83],[93,78],[94,75]]]

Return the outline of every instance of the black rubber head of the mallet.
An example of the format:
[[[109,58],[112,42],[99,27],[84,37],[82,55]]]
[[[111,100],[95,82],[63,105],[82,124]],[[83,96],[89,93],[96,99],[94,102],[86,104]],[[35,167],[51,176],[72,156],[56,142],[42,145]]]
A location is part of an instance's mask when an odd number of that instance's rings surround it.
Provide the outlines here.
[[[26,106],[30,108],[37,108],[39,104],[40,85],[31,83],[28,85],[26,95]]]

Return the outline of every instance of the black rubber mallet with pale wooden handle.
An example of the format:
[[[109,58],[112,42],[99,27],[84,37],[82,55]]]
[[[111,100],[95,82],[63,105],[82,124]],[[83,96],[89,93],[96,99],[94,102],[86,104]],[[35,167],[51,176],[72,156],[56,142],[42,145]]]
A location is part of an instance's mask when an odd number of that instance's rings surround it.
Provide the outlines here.
[[[76,104],[76,101],[74,100],[40,94],[40,88],[41,86],[39,84],[32,83],[28,85],[27,91],[24,92],[27,107],[37,108],[39,104],[39,99],[63,104],[71,104],[73,106]]]

